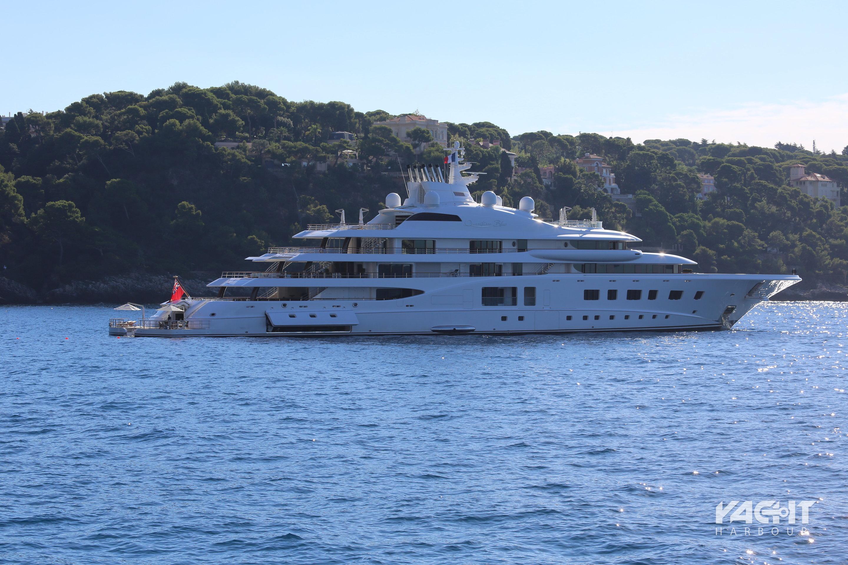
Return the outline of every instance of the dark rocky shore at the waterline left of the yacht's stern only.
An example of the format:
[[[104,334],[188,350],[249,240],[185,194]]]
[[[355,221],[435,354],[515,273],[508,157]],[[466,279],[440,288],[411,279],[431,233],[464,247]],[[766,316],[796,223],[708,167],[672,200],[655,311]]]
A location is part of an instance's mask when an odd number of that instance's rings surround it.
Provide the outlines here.
[[[198,274],[200,275],[200,274]],[[206,287],[209,280],[215,280],[210,274],[204,279],[182,279],[188,294],[192,296],[210,296],[213,291]],[[173,277],[166,274],[124,274],[105,277],[102,280],[78,280],[68,285],[45,292],[42,296],[31,288],[0,278],[0,303],[36,304],[36,303],[76,303],[96,304],[98,302],[140,302],[158,304],[170,297],[174,285]]]

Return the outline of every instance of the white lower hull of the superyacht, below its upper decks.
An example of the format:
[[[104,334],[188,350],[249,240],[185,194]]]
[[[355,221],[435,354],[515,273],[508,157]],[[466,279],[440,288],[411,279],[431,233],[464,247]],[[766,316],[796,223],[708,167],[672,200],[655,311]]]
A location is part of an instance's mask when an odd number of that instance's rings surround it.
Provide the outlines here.
[[[131,334],[290,337],[720,330],[731,328],[751,308],[799,280],[794,275],[760,274],[546,274],[379,280],[422,294],[393,300],[192,298],[182,302],[185,322],[139,327]],[[376,282],[365,280],[361,284]],[[334,284],[350,288],[351,280],[321,282],[325,287]],[[515,305],[509,300],[498,304],[485,298],[483,289],[493,287],[516,289]],[[534,298],[525,300],[529,288],[535,289]],[[127,330],[110,327],[109,333],[127,335]]]

